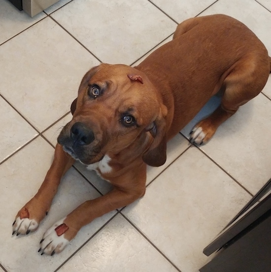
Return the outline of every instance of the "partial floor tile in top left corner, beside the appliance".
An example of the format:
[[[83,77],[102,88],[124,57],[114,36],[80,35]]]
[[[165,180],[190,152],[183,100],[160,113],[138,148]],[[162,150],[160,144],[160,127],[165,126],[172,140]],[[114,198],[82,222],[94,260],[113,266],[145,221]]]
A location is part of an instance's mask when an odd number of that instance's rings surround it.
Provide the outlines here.
[[[0,44],[46,16],[42,12],[31,18],[24,11],[17,9],[8,0],[0,0],[0,6]]]

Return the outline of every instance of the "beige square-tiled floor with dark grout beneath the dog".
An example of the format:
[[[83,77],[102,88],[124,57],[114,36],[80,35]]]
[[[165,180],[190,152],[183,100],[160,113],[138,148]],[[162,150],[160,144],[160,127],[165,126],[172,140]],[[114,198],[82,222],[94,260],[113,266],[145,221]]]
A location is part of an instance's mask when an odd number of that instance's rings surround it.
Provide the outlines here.
[[[271,76],[202,148],[186,139],[213,98],[149,168],[144,198],[85,226],[59,255],[40,256],[44,231],[110,185],[76,164],[49,215],[12,237],[18,209],[36,192],[70,119],[81,77],[100,61],[133,65],[189,17],[224,13],[271,52],[271,0],[61,0],[34,18],[0,0],[0,271],[196,272],[203,248],[271,178]],[[68,114],[68,115],[67,115]]]

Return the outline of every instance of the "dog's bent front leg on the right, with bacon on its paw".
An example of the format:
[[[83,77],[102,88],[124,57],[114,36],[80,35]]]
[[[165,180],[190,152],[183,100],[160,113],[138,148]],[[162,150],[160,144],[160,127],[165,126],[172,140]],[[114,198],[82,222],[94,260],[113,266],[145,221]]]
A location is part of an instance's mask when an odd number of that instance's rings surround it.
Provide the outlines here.
[[[44,253],[54,255],[61,252],[81,227],[107,212],[131,204],[143,196],[146,182],[145,173],[146,170],[143,174],[141,172],[140,179],[136,181],[135,179],[139,178],[139,175],[135,172],[119,177],[116,182],[118,185],[115,185],[112,191],[97,199],[84,202],[67,217],[56,222],[45,232],[41,240],[39,249],[41,255]]]

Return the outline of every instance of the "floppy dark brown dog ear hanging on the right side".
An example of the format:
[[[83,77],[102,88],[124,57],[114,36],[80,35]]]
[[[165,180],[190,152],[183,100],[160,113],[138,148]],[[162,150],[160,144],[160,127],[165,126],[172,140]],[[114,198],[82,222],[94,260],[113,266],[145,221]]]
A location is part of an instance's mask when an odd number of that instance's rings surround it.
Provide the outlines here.
[[[161,166],[167,160],[166,119],[167,108],[163,105],[160,114],[150,126],[149,132],[154,137],[149,149],[143,154],[143,162],[150,166]],[[148,130],[147,130],[148,131]]]

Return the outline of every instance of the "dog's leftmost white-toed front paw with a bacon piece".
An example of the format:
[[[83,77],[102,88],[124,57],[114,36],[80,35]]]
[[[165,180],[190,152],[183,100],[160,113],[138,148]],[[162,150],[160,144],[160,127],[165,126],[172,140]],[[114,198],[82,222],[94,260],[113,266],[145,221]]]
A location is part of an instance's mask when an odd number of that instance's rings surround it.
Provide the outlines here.
[[[38,227],[38,222],[34,218],[30,218],[27,208],[22,208],[13,222],[12,235],[29,234],[34,232]]]

